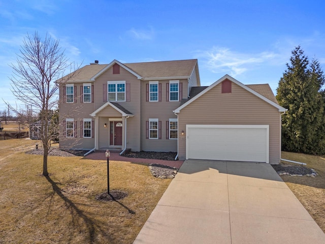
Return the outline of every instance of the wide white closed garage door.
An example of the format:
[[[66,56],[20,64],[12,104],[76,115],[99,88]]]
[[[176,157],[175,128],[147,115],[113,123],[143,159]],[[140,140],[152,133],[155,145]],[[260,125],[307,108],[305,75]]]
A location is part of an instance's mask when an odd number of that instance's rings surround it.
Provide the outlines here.
[[[186,125],[186,159],[269,163],[268,125]]]

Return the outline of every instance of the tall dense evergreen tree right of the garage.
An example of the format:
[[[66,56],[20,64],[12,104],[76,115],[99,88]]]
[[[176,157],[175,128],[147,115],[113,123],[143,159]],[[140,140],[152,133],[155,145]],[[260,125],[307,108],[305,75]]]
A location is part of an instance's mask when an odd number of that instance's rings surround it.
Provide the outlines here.
[[[282,115],[282,149],[306,154],[325,154],[324,75],[319,62],[300,46],[279,81],[277,100],[288,111]]]

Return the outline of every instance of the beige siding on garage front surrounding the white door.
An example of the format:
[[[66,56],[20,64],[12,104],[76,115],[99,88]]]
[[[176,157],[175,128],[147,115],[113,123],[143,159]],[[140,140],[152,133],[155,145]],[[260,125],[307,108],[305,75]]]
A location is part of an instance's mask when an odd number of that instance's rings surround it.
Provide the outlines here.
[[[232,83],[232,93],[221,94],[221,83],[179,113],[179,158],[185,159],[187,125],[269,125],[269,158],[280,162],[281,124],[278,109]]]

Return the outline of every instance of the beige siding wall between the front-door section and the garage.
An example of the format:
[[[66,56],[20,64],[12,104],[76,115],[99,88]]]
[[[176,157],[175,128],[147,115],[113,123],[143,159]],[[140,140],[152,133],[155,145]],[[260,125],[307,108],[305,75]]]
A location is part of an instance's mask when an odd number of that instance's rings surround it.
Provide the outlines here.
[[[166,121],[170,118],[177,118],[173,110],[179,107],[180,101],[170,102],[166,101],[167,89],[166,83],[169,80],[159,80],[161,83],[161,102],[146,102],[146,84],[149,81],[143,81],[142,84],[142,150],[144,151],[177,151],[177,140],[166,139]],[[182,83],[182,98],[186,98],[187,94],[187,79],[180,79]],[[146,139],[146,121],[149,118],[158,118],[161,121],[161,139]]]

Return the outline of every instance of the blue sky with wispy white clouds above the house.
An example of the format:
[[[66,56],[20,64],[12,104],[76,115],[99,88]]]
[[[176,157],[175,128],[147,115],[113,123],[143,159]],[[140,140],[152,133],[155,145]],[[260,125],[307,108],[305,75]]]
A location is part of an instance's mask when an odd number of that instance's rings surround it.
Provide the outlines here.
[[[201,85],[225,74],[276,93],[291,50],[325,68],[322,1],[0,0],[0,110],[15,104],[12,69],[27,32],[60,40],[88,65],[198,58]]]

